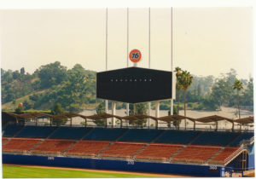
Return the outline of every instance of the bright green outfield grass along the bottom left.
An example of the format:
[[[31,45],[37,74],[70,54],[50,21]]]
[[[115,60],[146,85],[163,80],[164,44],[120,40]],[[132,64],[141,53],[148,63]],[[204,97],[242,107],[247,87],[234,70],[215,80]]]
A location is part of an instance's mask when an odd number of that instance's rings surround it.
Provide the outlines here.
[[[110,177],[160,177],[139,174],[114,173],[69,169],[49,169],[30,166],[3,165],[3,178],[110,178]]]

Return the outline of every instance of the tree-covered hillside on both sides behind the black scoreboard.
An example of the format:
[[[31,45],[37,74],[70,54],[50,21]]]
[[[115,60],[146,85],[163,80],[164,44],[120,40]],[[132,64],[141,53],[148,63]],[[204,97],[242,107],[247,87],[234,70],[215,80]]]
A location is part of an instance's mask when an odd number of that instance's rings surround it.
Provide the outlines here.
[[[191,79],[189,84],[183,81],[176,85],[174,104],[178,106],[177,113],[184,107],[216,111],[221,110],[222,106],[237,107],[237,102],[239,107],[253,110],[253,78],[239,79],[242,88],[237,90],[237,87],[234,88],[237,79],[234,69],[221,74],[219,78],[197,77],[179,67],[177,70],[180,70],[181,78]],[[176,76],[178,78],[177,74]],[[55,61],[38,67],[32,74],[26,72],[24,67],[20,68],[20,71],[1,69],[1,82],[3,111],[15,111],[22,102],[23,110],[26,111],[50,112],[59,103],[65,111],[79,113],[88,107],[96,108],[103,102],[96,99],[96,72],[85,70],[79,64],[67,69],[59,61]],[[110,107],[111,103],[108,106]],[[144,106],[140,107],[143,113],[147,108]],[[154,108],[154,102],[152,107]],[[125,108],[125,103],[118,102],[117,109],[120,108]],[[160,101],[160,109],[169,110],[170,101]]]

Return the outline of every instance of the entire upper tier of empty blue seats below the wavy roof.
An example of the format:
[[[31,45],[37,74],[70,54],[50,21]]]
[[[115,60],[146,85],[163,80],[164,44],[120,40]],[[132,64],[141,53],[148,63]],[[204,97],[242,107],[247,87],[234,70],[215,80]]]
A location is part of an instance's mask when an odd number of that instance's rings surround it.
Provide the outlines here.
[[[10,124],[3,129],[4,137],[72,139],[85,141],[135,141],[237,147],[250,140],[253,133],[202,132],[183,130],[128,130],[84,127],[54,127]]]

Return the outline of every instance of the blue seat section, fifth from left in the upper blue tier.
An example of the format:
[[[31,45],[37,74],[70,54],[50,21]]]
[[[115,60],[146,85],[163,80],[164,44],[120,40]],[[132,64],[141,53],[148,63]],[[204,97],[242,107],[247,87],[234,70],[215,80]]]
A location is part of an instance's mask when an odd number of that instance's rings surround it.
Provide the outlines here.
[[[128,130],[119,141],[152,141],[162,130]]]

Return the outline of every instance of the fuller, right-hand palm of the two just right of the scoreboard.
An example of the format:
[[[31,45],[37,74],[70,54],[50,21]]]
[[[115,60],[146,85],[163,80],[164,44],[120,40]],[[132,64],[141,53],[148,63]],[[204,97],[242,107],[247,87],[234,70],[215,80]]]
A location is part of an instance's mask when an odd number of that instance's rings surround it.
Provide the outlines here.
[[[190,75],[189,72],[183,71],[180,74],[180,84],[184,91],[183,93],[183,103],[184,103],[184,116],[186,116],[186,92],[189,86],[193,83],[193,77]],[[185,118],[185,129],[187,128],[187,119]]]

